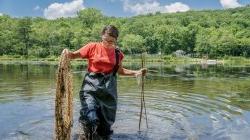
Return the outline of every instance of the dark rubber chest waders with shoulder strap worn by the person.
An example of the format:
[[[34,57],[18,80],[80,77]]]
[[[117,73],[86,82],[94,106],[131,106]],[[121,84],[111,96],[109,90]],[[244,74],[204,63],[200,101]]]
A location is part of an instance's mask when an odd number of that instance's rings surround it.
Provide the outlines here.
[[[81,110],[79,122],[84,127],[86,139],[112,134],[111,126],[115,122],[117,110],[117,80],[119,68],[119,50],[115,49],[116,64],[109,74],[87,72],[80,90]],[[86,132],[87,131],[87,132]]]

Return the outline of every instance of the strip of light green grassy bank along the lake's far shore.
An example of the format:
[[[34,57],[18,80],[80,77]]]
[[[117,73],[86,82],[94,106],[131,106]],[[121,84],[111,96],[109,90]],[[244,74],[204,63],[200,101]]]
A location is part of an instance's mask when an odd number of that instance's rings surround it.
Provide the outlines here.
[[[57,64],[59,60],[58,56],[50,56],[46,58],[28,57],[27,59],[23,56],[0,56],[0,63],[48,63]],[[250,58],[245,57],[232,57],[227,56],[218,59],[202,59],[192,57],[175,57],[172,55],[146,55],[146,61],[148,63],[166,63],[166,64],[199,64],[199,63],[216,63],[225,65],[250,65]],[[123,60],[124,63],[140,63],[140,55],[126,55]],[[86,60],[82,61],[77,59],[72,61],[73,65],[80,65],[86,63]]]

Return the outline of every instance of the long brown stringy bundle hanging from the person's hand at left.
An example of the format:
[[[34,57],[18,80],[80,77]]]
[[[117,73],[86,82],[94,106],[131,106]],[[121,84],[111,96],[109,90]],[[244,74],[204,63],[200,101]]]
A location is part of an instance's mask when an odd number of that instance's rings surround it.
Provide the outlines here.
[[[70,60],[61,54],[56,79],[55,139],[70,140],[73,125],[73,87]]]

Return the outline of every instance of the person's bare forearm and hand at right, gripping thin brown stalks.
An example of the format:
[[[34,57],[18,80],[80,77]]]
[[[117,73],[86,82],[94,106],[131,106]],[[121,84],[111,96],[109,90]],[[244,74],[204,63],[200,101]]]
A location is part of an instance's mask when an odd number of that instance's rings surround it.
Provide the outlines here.
[[[139,76],[139,75],[145,76],[146,72],[147,72],[146,68],[142,68],[140,70],[125,69],[122,66],[122,64],[119,66],[119,69],[118,69],[118,74],[120,74],[120,75],[126,75],[126,76]]]

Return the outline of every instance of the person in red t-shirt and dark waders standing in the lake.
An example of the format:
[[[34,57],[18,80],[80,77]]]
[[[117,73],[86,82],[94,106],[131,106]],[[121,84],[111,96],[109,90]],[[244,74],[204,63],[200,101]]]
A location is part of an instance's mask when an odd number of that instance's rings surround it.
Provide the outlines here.
[[[129,70],[122,66],[124,54],[116,46],[118,29],[105,26],[101,42],[91,42],[77,51],[64,49],[70,59],[88,60],[88,71],[80,90],[81,110],[79,123],[84,134],[82,139],[92,139],[93,134],[110,139],[117,110],[116,73],[120,75],[146,75],[146,69]],[[80,138],[81,139],[81,138]]]

